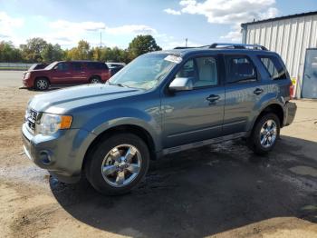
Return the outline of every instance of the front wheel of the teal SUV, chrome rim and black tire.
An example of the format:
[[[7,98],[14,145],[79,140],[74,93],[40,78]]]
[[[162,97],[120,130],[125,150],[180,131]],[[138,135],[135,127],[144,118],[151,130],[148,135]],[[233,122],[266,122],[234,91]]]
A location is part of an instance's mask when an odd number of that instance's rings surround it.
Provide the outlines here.
[[[85,174],[98,192],[129,193],[148,171],[149,148],[134,134],[115,134],[96,144],[87,159]]]

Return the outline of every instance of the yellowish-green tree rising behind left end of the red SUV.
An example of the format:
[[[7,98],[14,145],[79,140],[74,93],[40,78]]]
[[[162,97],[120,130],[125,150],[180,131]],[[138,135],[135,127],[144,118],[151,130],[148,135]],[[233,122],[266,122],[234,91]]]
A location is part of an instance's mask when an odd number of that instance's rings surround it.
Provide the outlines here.
[[[43,49],[47,46],[47,42],[43,38],[35,37],[27,40],[26,45],[20,45],[22,55],[28,62],[42,62],[41,56]]]

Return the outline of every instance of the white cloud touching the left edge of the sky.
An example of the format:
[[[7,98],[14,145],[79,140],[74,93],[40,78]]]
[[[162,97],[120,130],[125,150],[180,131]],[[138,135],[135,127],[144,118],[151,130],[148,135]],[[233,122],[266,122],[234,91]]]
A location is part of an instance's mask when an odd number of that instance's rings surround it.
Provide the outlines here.
[[[5,12],[0,12],[0,40],[1,38],[11,38],[14,36],[14,29],[24,25],[24,19],[12,17]]]

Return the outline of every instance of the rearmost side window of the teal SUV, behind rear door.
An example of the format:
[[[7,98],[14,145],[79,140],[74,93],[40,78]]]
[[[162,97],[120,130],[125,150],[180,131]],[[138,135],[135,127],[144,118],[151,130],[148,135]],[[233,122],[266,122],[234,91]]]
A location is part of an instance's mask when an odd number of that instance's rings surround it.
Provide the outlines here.
[[[272,80],[286,79],[286,68],[275,55],[257,55]]]

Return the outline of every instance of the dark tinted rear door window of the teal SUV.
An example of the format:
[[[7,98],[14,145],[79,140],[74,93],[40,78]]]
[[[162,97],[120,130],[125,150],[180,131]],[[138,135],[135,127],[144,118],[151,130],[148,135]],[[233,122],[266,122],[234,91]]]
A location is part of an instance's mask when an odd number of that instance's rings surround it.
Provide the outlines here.
[[[256,81],[255,64],[244,55],[226,55],[226,83],[247,83]]]

